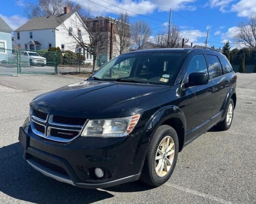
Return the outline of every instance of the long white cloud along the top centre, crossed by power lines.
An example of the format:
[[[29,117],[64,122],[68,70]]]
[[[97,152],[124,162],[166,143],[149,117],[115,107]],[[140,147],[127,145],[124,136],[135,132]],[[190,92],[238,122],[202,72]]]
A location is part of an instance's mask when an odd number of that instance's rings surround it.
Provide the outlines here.
[[[137,14],[150,14],[155,10],[158,11],[169,11],[169,8],[173,8],[175,10],[190,10],[194,11],[196,7],[194,5],[190,5],[189,3],[194,2],[195,0],[175,0],[175,1],[163,1],[163,0],[92,0],[93,2],[101,5],[97,5],[90,1],[84,0],[72,0],[73,2],[81,4],[84,8],[90,8],[92,15],[106,14],[116,12],[122,13],[125,12],[126,9],[128,11],[132,11]],[[108,3],[107,3],[108,2]],[[110,4],[109,4],[110,3]],[[111,5],[112,4],[112,5]],[[113,6],[115,5],[115,6]],[[116,6],[120,7],[117,8]],[[166,8],[157,8],[155,6],[166,7]],[[123,8],[123,9],[121,9]],[[111,10],[113,11],[111,11]],[[116,12],[115,12],[116,11]],[[136,14],[128,12],[129,16],[135,16]]]

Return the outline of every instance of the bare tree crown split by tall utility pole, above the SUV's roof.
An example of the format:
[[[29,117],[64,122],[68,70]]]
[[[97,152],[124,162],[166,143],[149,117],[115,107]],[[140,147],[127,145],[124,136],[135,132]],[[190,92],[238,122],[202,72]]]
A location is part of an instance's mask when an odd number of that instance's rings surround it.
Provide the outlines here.
[[[168,43],[168,29],[164,29],[157,34],[155,44],[157,48],[177,48],[181,40],[180,31],[173,26],[170,32]]]

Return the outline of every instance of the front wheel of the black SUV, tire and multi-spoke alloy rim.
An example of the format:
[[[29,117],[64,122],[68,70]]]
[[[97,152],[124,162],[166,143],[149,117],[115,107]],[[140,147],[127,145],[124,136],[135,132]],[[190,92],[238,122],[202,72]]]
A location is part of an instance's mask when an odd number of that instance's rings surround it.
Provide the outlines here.
[[[176,131],[169,125],[158,127],[149,144],[140,181],[154,187],[168,181],[175,168],[178,151]]]

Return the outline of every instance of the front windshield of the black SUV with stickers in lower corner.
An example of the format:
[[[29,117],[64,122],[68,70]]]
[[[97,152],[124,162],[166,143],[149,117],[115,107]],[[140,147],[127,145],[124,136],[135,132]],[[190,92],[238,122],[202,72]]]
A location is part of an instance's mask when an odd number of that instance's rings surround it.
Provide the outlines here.
[[[183,53],[123,54],[105,64],[90,79],[172,85]]]

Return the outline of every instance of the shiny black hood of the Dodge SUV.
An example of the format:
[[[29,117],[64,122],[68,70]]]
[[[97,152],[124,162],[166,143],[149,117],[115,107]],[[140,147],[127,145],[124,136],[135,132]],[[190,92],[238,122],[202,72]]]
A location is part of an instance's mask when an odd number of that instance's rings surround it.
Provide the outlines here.
[[[81,81],[37,96],[30,105],[45,113],[102,119],[140,113],[142,102],[169,90],[169,86],[124,82]]]

